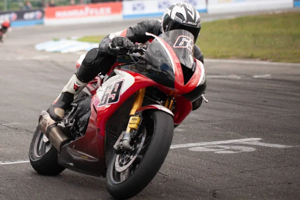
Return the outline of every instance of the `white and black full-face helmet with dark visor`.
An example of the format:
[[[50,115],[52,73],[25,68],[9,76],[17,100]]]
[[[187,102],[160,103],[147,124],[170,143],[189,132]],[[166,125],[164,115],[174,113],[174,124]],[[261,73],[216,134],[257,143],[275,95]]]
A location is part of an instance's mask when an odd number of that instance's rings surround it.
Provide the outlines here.
[[[161,29],[162,32],[174,29],[187,30],[194,35],[196,41],[201,29],[200,14],[188,3],[174,3],[163,13]]]

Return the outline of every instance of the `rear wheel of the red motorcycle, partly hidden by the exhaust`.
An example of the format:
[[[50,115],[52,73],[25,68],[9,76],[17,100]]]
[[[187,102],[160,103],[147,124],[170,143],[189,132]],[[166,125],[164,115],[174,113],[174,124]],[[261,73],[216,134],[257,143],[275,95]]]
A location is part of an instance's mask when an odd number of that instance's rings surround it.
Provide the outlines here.
[[[43,135],[37,126],[29,148],[30,164],[39,174],[57,175],[65,168],[58,164],[57,150],[50,141],[44,141]]]

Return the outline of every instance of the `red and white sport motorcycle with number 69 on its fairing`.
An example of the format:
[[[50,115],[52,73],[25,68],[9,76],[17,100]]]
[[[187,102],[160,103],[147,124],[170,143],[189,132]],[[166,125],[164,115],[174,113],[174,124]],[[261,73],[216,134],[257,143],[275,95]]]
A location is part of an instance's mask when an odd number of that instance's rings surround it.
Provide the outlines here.
[[[54,175],[69,168],[104,176],[115,198],[146,187],[168,153],[174,127],[206,88],[190,32],[152,36],[148,47],[128,48],[104,78],[90,81],[91,94],[81,92],[59,123],[40,113],[29,152],[37,172]]]

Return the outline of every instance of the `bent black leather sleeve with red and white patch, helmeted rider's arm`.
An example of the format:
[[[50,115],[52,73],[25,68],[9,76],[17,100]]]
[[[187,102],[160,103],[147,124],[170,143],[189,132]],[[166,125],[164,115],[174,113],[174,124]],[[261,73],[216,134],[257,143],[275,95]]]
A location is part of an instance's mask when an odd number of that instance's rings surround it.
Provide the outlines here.
[[[124,36],[129,38],[133,43],[139,42],[144,43],[149,39],[152,39],[152,36],[145,35],[145,32],[149,32],[157,35],[160,32],[160,20],[159,19],[147,19],[136,23],[132,27],[115,33],[106,35],[99,43],[99,51],[102,53],[107,52],[107,44],[115,36]]]

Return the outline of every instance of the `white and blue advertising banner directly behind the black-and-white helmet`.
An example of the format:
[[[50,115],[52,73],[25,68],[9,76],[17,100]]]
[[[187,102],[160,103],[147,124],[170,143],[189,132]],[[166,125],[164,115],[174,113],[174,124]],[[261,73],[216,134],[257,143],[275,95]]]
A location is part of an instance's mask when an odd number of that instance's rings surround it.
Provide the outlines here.
[[[199,12],[206,12],[206,0],[181,0],[193,5]],[[180,2],[181,2],[180,1]],[[129,0],[123,1],[124,19],[161,17],[165,9],[178,0]]]

